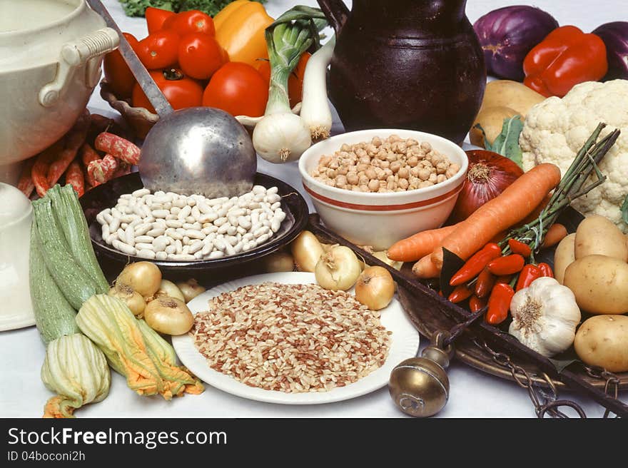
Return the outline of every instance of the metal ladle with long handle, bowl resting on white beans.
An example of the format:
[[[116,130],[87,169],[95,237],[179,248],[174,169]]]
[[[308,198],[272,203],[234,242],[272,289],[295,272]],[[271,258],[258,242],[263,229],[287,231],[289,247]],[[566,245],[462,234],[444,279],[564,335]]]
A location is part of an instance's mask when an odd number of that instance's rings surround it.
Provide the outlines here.
[[[118,32],[120,53],[159,116],[141,149],[144,187],[208,198],[241,195],[253,188],[257,157],[245,128],[216,108],[174,111],[101,1],[87,3]]]

